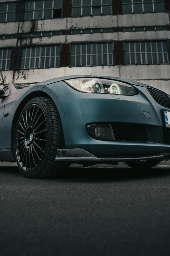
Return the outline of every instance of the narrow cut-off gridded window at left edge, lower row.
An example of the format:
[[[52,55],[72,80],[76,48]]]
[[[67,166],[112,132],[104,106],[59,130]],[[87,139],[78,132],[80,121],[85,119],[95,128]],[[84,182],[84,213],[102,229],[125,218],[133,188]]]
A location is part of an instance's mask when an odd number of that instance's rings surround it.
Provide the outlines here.
[[[0,49],[0,70],[9,70],[11,49]]]

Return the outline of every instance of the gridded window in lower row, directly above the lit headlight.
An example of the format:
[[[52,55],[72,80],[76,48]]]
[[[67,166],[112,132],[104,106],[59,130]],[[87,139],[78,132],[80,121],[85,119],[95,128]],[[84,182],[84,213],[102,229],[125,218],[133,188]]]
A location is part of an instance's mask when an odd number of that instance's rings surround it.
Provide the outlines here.
[[[113,43],[82,43],[71,46],[71,67],[113,65]]]

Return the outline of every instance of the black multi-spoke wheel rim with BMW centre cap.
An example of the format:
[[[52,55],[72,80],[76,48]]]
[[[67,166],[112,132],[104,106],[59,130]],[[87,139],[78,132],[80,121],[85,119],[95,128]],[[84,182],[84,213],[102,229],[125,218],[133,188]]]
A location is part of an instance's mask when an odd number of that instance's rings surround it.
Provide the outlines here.
[[[28,106],[20,116],[15,137],[17,160],[25,172],[33,171],[40,163],[47,141],[44,111],[36,104]]]

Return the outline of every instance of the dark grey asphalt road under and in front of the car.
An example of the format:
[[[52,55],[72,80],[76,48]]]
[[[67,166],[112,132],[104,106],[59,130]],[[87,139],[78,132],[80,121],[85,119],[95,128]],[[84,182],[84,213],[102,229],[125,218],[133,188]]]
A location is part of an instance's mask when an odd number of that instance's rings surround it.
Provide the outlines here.
[[[1,164],[0,255],[170,255],[170,166],[35,180]]]

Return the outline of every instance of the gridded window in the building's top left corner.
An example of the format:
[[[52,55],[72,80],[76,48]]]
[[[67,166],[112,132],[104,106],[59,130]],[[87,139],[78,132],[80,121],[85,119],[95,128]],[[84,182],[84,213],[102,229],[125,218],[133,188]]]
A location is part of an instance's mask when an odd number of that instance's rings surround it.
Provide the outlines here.
[[[1,3],[0,4],[0,22],[14,22],[15,21],[16,3]]]

